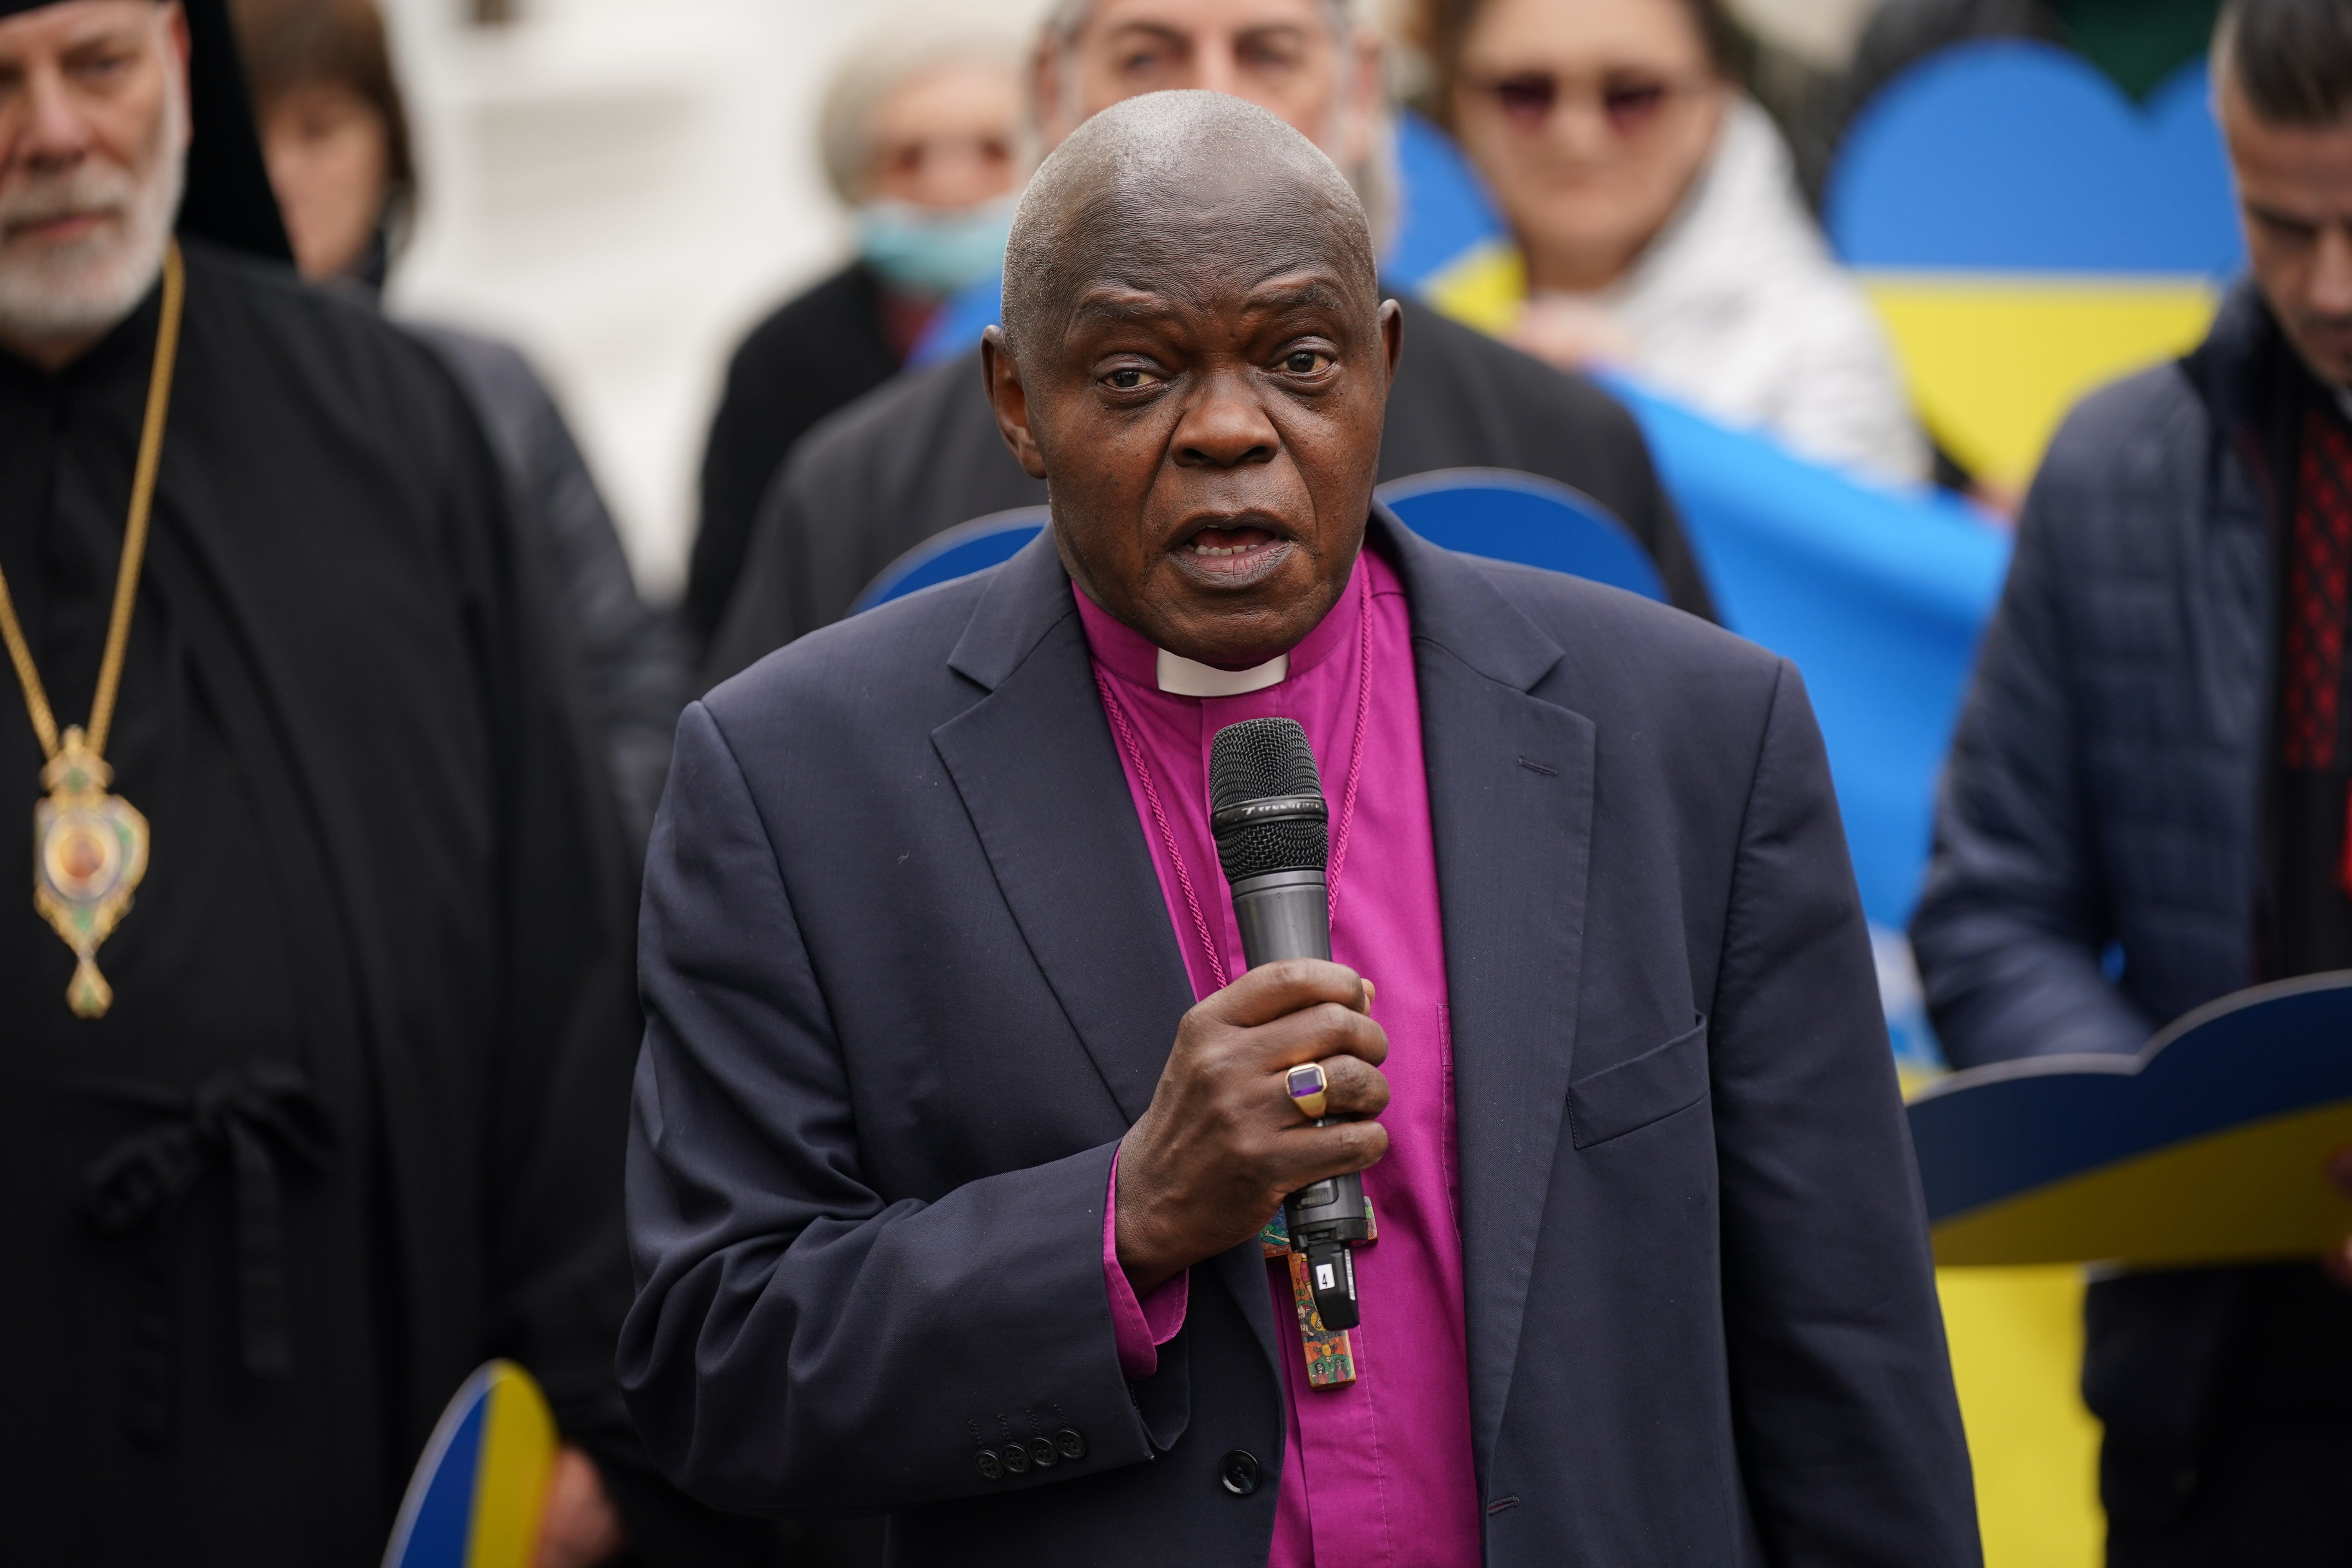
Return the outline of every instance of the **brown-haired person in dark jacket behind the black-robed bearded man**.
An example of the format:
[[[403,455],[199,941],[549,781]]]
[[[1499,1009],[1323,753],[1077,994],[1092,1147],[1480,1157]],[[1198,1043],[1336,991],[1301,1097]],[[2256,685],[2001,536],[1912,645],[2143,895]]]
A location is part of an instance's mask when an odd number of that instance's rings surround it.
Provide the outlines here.
[[[416,202],[407,110],[374,0],[230,0],[270,188],[301,275],[381,303]],[[588,461],[529,360],[454,327],[409,322],[482,418],[508,508],[560,616],[555,668],[579,686],[642,856],[684,703],[680,630],[644,599]]]

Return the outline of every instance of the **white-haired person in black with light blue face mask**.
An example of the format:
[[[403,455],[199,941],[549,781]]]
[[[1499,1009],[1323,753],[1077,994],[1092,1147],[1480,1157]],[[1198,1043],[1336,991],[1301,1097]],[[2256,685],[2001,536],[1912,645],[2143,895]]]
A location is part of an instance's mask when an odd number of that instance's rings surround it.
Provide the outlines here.
[[[753,327],[727,367],[687,569],[696,637],[727,611],[793,442],[896,376],[941,301],[1004,259],[1025,143],[1018,40],[969,7],[894,14],[835,71],[818,148],[858,254]]]

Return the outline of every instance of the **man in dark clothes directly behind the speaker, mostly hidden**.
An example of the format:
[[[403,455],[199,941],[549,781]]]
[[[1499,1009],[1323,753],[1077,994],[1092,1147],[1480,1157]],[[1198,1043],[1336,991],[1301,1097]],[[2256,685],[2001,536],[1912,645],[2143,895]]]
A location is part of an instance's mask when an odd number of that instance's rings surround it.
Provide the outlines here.
[[[1350,0],[1061,0],[1037,38],[1037,125],[1054,143],[1138,92],[1232,92],[1315,139],[1378,209],[1395,183],[1381,155],[1381,52],[1355,9]],[[1581,489],[1651,552],[1675,604],[1715,614],[1632,414],[1592,381],[1418,301],[1402,310],[1414,353],[1390,390],[1381,480],[1515,468]],[[769,484],[706,679],[840,621],[875,574],[934,534],[1042,503],[1044,482],[997,440],[978,353],[868,393],[809,430]]]

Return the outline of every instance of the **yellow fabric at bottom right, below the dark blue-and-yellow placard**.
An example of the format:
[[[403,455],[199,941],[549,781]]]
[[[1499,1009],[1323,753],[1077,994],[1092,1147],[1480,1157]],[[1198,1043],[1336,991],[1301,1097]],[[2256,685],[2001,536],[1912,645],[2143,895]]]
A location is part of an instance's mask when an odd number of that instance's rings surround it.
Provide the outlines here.
[[[2082,1269],[1938,1269],[1985,1568],[2098,1568],[2098,1422],[2082,1403]]]

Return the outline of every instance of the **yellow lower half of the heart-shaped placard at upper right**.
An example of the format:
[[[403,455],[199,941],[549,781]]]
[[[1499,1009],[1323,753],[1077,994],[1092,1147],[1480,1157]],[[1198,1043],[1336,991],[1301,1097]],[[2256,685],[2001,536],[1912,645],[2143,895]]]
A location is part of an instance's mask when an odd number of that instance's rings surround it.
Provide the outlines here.
[[[2194,348],[2204,277],[1865,273],[1922,423],[1978,480],[2018,489],[2074,402]]]

